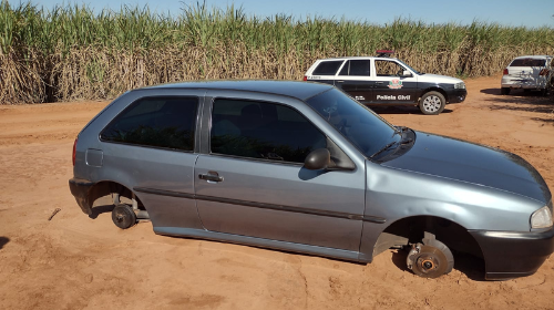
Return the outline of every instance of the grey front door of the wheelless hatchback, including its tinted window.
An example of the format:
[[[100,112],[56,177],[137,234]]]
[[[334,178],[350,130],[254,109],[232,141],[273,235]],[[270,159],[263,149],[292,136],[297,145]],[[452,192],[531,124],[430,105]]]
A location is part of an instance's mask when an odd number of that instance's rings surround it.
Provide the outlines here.
[[[280,96],[224,91],[207,96],[213,104],[211,127],[203,128],[208,145],[195,166],[204,227],[358,251],[365,167],[348,172],[304,167],[310,151],[327,145],[326,134],[305,114],[314,117],[315,112]]]

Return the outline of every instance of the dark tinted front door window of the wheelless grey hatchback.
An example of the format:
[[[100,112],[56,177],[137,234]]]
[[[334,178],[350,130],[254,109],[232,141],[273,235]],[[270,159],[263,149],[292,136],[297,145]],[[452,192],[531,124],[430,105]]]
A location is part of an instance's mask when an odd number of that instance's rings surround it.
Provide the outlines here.
[[[217,99],[212,110],[214,154],[304,163],[326,136],[298,111],[275,103]]]

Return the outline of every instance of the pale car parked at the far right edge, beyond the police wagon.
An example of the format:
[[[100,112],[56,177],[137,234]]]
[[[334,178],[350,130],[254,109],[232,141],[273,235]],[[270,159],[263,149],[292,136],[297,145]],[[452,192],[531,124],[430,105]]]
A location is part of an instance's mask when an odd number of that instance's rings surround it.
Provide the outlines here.
[[[511,90],[548,92],[553,71],[553,58],[550,55],[526,55],[515,58],[504,69],[501,81],[501,94]]]

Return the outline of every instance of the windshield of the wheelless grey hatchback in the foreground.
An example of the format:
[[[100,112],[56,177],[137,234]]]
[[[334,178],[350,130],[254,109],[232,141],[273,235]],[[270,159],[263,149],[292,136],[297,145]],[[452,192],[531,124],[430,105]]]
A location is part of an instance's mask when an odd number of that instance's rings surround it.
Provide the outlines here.
[[[399,135],[394,135],[396,128],[391,124],[337,89],[312,96],[306,102],[366,157],[371,157],[383,146],[400,140]]]

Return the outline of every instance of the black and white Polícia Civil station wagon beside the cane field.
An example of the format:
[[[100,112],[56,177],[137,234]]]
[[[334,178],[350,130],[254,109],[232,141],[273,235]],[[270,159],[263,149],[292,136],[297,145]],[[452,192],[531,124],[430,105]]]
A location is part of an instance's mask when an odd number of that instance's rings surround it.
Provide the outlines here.
[[[318,60],[304,81],[332,84],[366,105],[418,105],[428,115],[465,100],[468,91],[462,80],[418,72],[391,58],[393,51],[377,53]]]

